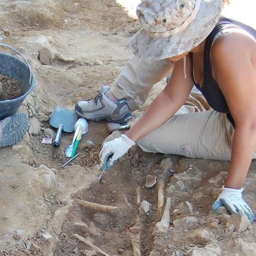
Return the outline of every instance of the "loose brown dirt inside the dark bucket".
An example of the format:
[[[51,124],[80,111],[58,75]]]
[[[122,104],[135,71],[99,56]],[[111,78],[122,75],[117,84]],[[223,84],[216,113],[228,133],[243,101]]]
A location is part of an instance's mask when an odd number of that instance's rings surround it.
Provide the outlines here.
[[[21,83],[12,77],[0,75],[0,101],[21,97]]]

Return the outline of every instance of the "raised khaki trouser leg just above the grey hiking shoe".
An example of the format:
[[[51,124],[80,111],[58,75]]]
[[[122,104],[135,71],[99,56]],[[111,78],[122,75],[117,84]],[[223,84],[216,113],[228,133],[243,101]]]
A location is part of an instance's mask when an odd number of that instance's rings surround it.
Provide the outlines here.
[[[131,111],[141,107],[155,83],[173,71],[173,62],[168,60],[148,61],[133,56],[111,87],[117,99],[126,98]]]

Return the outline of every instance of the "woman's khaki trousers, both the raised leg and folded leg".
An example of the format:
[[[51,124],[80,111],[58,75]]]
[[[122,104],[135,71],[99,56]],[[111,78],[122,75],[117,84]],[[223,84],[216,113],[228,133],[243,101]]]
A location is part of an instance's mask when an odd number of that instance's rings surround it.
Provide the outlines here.
[[[122,68],[111,92],[117,99],[126,98],[134,111],[144,104],[152,86],[172,70],[171,61],[147,61],[133,56]],[[186,104],[170,120],[137,144],[146,152],[230,160],[233,134],[227,115],[211,110],[201,93],[192,91]]]

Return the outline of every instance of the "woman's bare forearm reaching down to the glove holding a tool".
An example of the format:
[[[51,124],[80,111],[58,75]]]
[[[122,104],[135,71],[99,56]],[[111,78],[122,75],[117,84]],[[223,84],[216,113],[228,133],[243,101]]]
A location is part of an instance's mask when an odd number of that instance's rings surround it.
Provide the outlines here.
[[[189,58],[189,57],[188,57]],[[176,111],[188,99],[191,88],[194,83],[191,78],[191,64],[187,61],[186,71],[187,78],[184,78],[183,60],[175,62],[173,73],[168,85],[164,90],[152,101],[144,115],[140,117],[126,135],[133,141],[139,140],[141,137],[154,131],[157,127],[169,120]]]

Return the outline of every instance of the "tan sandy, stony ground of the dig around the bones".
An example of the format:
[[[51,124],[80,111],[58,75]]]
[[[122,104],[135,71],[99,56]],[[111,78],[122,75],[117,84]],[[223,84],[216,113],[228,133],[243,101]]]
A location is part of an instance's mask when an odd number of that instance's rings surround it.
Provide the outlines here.
[[[63,150],[72,134],[63,134],[60,149],[41,143],[55,105],[73,109],[77,100],[92,99],[101,85],[113,83],[131,57],[128,41],[139,24],[126,9],[114,0],[3,0],[0,12],[2,42],[28,58],[37,80],[20,110],[29,114],[28,134],[18,145],[0,149],[0,255],[100,255],[73,233],[110,255],[132,255],[127,230],[136,222],[136,186],[151,204],[148,214],[140,214],[141,255],[256,255],[255,224],[239,232],[239,220],[223,215],[224,210],[210,212],[228,162],[145,154],[135,148],[99,184],[98,154],[109,135],[105,122],[89,122],[80,157],[65,169]],[[43,47],[57,56],[50,65],[38,60]],[[164,86],[161,81],[154,87],[146,106]],[[155,234],[161,217],[157,185],[146,188],[145,179],[148,174],[160,179],[165,169],[160,162],[166,157],[175,169],[165,191],[171,196],[171,225],[166,234]],[[256,210],[255,168],[253,161],[244,187]],[[119,213],[94,213],[75,199],[118,206]]]

